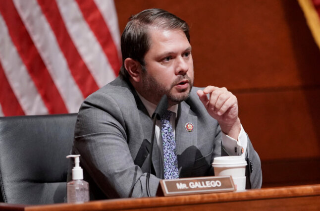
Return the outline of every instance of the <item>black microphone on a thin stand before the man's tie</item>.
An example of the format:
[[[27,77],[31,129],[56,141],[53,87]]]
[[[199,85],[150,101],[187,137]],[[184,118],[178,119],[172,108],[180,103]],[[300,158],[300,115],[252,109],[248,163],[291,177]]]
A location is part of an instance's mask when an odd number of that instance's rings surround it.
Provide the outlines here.
[[[153,118],[153,126],[152,126],[152,135],[151,135],[151,150],[149,155],[149,162],[148,162],[148,169],[149,172],[147,174],[147,180],[146,180],[146,188],[147,188],[147,194],[150,197],[150,188],[149,188],[149,181],[150,181],[150,173],[151,173],[151,163],[152,163],[152,151],[154,146],[154,138],[155,138],[155,128],[156,128],[156,121],[157,119],[160,120],[161,116],[164,114],[164,112],[168,109],[168,99],[166,95],[163,95],[155,112],[152,114]]]

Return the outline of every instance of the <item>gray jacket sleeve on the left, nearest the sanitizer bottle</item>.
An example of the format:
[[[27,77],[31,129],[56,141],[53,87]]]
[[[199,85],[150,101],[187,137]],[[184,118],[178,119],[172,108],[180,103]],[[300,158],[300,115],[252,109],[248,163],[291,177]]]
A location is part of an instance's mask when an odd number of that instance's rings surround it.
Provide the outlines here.
[[[81,165],[106,198],[146,197],[147,173],[133,161],[125,122],[131,117],[123,114],[121,106],[106,93],[88,97],[77,117],[74,153],[81,155]],[[150,175],[153,196],[159,180]]]

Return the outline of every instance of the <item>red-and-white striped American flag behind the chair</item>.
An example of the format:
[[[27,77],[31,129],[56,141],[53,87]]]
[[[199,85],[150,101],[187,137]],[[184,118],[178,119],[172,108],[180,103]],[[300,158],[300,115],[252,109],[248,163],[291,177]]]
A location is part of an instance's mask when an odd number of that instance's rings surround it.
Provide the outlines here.
[[[119,47],[113,0],[0,0],[0,116],[77,112]]]

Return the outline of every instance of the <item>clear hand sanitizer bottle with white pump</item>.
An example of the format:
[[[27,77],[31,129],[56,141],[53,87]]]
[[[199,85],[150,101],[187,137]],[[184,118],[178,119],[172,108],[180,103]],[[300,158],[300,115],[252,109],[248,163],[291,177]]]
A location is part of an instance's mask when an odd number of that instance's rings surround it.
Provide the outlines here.
[[[74,158],[75,166],[72,169],[72,180],[67,183],[67,202],[89,202],[89,183],[83,180],[83,171],[80,167],[80,155],[70,155]]]

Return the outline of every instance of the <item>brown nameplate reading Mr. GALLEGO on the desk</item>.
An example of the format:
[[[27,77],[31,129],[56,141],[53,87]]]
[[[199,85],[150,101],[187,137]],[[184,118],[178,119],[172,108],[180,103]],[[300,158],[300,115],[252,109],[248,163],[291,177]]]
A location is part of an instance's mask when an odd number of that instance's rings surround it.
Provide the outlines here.
[[[157,196],[179,196],[236,191],[231,176],[160,180]]]

